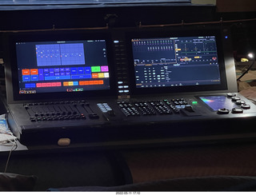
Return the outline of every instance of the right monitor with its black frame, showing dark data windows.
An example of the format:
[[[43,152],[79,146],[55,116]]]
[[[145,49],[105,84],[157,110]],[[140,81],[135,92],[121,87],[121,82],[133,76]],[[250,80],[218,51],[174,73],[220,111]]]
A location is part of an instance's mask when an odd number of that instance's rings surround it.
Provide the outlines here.
[[[221,36],[200,30],[130,35],[133,94],[228,90]]]

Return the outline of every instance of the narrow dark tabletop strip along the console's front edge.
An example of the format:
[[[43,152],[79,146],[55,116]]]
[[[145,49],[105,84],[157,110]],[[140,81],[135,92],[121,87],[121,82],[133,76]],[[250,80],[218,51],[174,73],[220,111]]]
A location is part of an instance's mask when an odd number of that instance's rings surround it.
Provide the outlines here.
[[[158,138],[150,140],[127,140],[127,141],[105,141],[90,143],[72,143],[70,145],[59,146],[58,143],[52,145],[22,145],[17,141],[18,147],[14,149],[15,153],[66,153],[75,151],[100,151],[100,150],[129,150],[129,149],[154,149],[164,147],[190,147],[193,145],[222,145],[239,144],[256,141],[256,133],[232,133],[211,136],[197,137],[173,137]],[[10,152],[12,145],[0,145],[0,154]]]

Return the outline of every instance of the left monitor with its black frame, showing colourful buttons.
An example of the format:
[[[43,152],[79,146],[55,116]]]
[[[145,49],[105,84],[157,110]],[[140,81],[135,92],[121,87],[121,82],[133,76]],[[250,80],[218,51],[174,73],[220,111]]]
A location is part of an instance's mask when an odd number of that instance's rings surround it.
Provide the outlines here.
[[[108,40],[76,35],[12,39],[14,100],[111,94]]]

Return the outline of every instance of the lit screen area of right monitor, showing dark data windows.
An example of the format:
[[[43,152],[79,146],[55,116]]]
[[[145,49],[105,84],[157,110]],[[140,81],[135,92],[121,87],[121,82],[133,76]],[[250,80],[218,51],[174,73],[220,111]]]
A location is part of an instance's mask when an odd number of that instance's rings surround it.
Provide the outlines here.
[[[215,36],[132,38],[136,89],[221,84]]]

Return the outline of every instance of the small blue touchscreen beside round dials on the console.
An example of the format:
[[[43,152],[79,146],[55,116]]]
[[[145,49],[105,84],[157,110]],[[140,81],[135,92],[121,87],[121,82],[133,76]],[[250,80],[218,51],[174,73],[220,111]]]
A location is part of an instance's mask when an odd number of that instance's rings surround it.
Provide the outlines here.
[[[198,98],[214,111],[222,108],[233,109],[234,107],[237,107],[234,102],[226,98],[225,95],[200,96]]]

